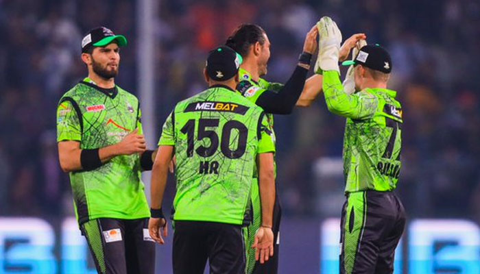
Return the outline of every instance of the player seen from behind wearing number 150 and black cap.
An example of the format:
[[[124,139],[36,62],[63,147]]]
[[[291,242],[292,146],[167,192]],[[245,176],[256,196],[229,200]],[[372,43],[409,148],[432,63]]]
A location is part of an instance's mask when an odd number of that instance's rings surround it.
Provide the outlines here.
[[[235,90],[241,55],[226,46],[209,53],[208,89],[181,101],[163,125],[152,171],[150,235],[167,236],[162,201],[176,156],[173,272],[245,273],[247,249],[261,263],[274,254],[274,140],[263,110]],[[252,245],[252,177],[259,175],[262,220]]]

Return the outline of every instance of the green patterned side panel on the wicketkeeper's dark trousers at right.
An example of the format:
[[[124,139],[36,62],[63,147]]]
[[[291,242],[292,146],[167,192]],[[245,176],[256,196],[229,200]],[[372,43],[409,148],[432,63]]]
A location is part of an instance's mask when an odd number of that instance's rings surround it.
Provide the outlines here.
[[[347,201],[346,216],[344,224],[344,267],[345,273],[353,271],[355,258],[359,249],[359,242],[365,227],[367,214],[367,192],[352,192]]]

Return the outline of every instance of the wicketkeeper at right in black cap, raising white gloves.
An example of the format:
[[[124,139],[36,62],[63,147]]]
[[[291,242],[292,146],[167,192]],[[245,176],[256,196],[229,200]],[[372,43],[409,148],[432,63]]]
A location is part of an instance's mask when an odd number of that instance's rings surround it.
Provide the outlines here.
[[[405,227],[405,210],[394,193],[401,162],[402,107],[387,89],[389,53],[361,47],[349,74],[355,92],[339,79],[341,32],[329,17],[317,23],[319,66],[326,105],[346,117],[344,173],[346,203],[341,213],[340,273],[393,273],[394,251]]]

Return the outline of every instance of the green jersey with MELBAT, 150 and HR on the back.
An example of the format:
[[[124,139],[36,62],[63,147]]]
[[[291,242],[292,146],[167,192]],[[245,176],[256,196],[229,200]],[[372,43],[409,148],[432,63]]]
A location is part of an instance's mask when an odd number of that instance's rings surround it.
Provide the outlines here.
[[[158,145],[175,146],[173,220],[245,225],[256,155],[275,151],[263,110],[226,86],[181,101]]]

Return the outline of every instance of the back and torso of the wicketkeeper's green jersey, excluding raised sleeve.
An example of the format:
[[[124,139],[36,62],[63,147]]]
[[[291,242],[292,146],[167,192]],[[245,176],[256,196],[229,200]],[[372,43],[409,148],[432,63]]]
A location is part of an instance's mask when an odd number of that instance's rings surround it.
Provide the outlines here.
[[[396,92],[369,88],[352,96],[376,97],[376,112],[369,119],[346,121],[344,172],[346,192],[391,191],[400,175],[402,108]]]

